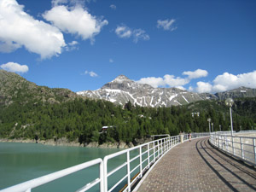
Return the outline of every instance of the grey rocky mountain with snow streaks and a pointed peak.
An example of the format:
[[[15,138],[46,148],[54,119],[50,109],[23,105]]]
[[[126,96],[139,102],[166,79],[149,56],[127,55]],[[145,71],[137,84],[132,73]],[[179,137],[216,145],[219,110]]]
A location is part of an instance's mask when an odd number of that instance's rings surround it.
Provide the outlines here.
[[[241,87],[236,90],[225,91],[217,94],[194,93],[177,88],[154,88],[148,84],[138,84],[125,75],[119,75],[116,79],[104,84],[99,90],[84,90],[78,95],[92,99],[103,99],[120,105],[131,102],[132,105],[157,108],[160,106],[171,107],[189,104],[196,101],[224,100],[232,97],[255,97],[256,90]]]

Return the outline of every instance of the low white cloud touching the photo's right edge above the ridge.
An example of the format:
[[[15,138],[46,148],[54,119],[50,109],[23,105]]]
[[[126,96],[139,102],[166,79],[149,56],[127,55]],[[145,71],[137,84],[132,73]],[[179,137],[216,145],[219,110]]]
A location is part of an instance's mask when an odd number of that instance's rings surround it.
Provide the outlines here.
[[[218,75],[211,83],[198,82],[195,90],[202,92],[223,92],[245,86],[256,88],[256,71],[250,73],[231,74],[223,73]]]

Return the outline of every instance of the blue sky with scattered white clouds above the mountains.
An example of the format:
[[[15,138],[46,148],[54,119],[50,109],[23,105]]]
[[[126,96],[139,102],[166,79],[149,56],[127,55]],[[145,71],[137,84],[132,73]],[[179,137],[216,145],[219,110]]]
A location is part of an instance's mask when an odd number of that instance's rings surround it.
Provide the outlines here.
[[[256,88],[254,0],[0,0],[0,67],[96,90],[120,74],[154,87]]]

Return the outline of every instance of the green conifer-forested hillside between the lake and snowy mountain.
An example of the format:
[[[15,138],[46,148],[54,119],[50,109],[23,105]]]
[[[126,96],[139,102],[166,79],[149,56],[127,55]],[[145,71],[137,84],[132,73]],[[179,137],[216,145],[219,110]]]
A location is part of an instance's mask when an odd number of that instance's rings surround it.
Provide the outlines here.
[[[79,143],[135,143],[155,134],[180,131],[230,130],[229,108],[224,101],[201,101],[171,108],[125,107],[77,96],[71,90],[50,89],[0,70],[0,137],[59,139]],[[234,130],[256,127],[256,99],[236,99]],[[220,125],[220,126],[219,126]],[[102,132],[102,127],[108,131]]]

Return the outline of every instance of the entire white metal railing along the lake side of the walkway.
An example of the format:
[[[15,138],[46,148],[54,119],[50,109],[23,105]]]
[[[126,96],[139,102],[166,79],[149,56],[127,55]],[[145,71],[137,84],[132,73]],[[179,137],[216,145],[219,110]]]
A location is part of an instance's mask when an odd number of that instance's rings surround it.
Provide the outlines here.
[[[207,137],[209,133],[192,133],[191,138]],[[104,160],[98,158],[90,160],[78,166],[72,166],[59,172],[53,172],[43,177],[34,178],[30,181],[17,184],[7,189],[0,190],[1,192],[31,192],[32,189],[45,183],[52,182],[60,177],[65,177],[74,172],[79,172],[90,166],[99,165],[99,177],[90,183],[86,183],[84,187],[78,189],[78,192],[86,191],[96,184],[99,185],[98,191],[108,192],[117,189],[119,185],[125,186],[123,191],[131,191],[131,187],[143,177],[146,171],[150,171],[150,167],[157,163],[160,158],[166,154],[171,148],[179,143],[189,140],[189,134],[181,134],[179,136],[165,137],[154,140],[149,143],[138,145],[134,148],[127,148],[114,154],[105,156]],[[254,141],[255,142],[255,141]],[[255,146],[255,143],[254,143]],[[116,165],[114,159],[124,157],[124,162],[121,165]],[[113,160],[114,163],[111,164]],[[123,170],[122,170],[123,169]],[[125,170],[125,171],[124,171]],[[122,172],[123,171],[123,172]],[[122,172],[122,174],[119,174]],[[119,174],[118,179],[115,181],[109,178],[114,174]],[[121,176],[120,176],[121,175]]]

